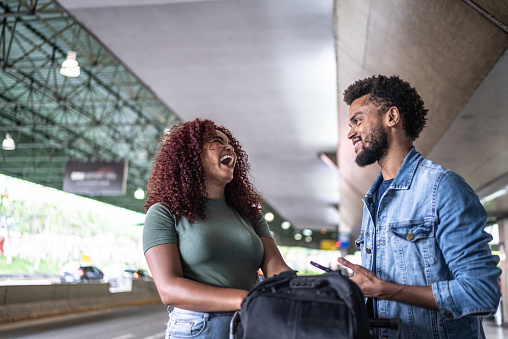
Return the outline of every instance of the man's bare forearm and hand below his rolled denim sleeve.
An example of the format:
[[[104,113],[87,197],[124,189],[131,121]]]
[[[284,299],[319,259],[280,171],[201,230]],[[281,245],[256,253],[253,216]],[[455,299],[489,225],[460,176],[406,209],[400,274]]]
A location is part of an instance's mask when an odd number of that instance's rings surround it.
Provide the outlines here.
[[[344,258],[337,261],[353,271],[350,279],[355,282],[367,298],[393,300],[401,303],[437,310],[431,286],[411,286],[380,280],[363,266],[355,265]]]

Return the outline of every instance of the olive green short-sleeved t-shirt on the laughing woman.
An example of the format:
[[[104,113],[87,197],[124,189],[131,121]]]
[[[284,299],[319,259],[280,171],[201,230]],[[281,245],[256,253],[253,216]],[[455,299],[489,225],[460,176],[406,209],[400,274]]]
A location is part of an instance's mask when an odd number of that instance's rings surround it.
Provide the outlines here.
[[[193,223],[157,203],[146,213],[143,251],[176,243],[183,275],[213,286],[250,290],[259,281],[263,261],[260,237],[272,237],[265,219],[254,228],[227,205],[225,198],[207,199],[205,219]]]

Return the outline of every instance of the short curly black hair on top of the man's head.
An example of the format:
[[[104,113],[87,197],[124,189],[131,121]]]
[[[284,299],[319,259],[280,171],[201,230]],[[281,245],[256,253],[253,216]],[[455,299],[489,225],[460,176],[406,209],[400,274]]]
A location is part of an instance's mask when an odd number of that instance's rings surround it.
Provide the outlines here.
[[[380,114],[395,106],[402,116],[402,126],[407,136],[415,141],[427,122],[424,103],[414,87],[397,75],[372,76],[358,80],[344,91],[344,102],[351,106],[353,101],[369,95],[367,103],[378,108]]]

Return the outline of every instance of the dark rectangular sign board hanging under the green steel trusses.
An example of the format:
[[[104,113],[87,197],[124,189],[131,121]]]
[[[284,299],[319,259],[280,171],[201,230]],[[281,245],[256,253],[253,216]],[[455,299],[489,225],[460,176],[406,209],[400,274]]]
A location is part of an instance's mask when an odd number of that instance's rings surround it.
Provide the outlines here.
[[[68,161],[63,190],[81,195],[123,195],[127,183],[127,160]]]

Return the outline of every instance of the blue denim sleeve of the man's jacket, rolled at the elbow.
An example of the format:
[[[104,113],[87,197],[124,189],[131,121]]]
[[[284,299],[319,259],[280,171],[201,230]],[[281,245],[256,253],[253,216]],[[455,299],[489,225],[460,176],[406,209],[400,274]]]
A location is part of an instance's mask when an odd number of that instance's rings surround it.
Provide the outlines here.
[[[439,311],[447,318],[495,311],[500,291],[499,257],[492,255],[484,231],[487,213],[460,176],[446,172],[434,187],[439,225],[436,240],[452,279],[432,284]]]

